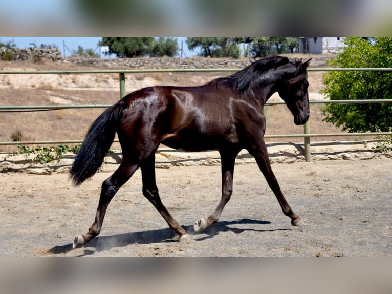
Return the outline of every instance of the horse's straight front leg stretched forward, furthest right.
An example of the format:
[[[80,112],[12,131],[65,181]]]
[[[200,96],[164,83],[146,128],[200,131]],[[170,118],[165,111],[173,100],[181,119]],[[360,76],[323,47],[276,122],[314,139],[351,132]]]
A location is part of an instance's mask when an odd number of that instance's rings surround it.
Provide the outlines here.
[[[271,169],[270,160],[268,158],[267,146],[264,140],[262,140],[258,145],[253,146],[253,148],[248,149],[249,154],[251,154],[256,159],[257,165],[262,171],[264,177],[266,178],[271,190],[274,192],[283,213],[291,218],[291,224],[293,226],[303,226],[304,222],[298,215],[296,215],[292,211],[290,205],[287,203],[285,197],[280,190],[279,183]]]

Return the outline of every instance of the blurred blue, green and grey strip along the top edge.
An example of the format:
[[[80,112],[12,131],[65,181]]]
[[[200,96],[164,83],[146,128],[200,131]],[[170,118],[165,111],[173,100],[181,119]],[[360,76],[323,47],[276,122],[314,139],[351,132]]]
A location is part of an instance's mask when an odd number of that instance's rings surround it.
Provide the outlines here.
[[[4,3],[0,34],[385,36],[392,24],[389,0],[38,2]]]

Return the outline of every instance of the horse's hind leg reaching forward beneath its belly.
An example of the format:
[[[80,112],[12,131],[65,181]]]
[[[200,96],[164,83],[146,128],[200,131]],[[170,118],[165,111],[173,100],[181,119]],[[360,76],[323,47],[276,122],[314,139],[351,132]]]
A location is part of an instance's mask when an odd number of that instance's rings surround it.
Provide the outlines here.
[[[182,241],[188,234],[179,225],[179,223],[170,215],[163,205],[158,193],[158,187],[155,179],[155,154],[153,153],[140,164],[143,181],[143,195],[157,208],[158,212],[165,219],[170,229],[178,234],[179,240]]]

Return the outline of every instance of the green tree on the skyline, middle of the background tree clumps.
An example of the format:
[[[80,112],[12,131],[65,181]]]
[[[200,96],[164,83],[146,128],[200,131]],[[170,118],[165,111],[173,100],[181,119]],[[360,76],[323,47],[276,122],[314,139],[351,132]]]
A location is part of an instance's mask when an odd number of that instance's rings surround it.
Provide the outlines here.
[[[200,55],[204,57],[239,58],[241,39],[238,37],[187,37],[185,43],[191,51],[200,47]]]

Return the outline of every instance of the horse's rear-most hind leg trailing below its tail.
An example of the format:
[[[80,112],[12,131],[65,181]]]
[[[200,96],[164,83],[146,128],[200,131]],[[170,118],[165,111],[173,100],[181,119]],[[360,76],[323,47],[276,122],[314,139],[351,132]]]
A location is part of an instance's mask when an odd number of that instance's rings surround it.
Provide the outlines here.
[[[95,221],[86,234],[75,237],[73,248],[83,247],[101,232],[102,222],[105,217],[107,206],[119,188],[125,184],[130,177],[132,177],[138,167],[138,164],[133,164],[127,160],[123,160],[113,175],[102,183],[101,196],[99,198],[99,204],[95,214]]]

